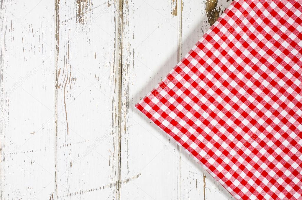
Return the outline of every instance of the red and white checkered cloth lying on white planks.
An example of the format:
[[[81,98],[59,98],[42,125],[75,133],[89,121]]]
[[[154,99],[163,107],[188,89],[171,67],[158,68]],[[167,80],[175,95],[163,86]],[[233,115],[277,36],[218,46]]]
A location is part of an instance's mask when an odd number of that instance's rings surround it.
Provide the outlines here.
[[[235,0],[136,107],[237,199],[302,199],[302,0]]]

